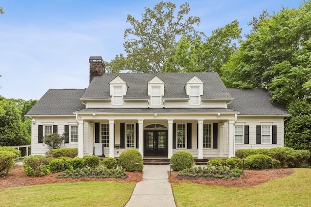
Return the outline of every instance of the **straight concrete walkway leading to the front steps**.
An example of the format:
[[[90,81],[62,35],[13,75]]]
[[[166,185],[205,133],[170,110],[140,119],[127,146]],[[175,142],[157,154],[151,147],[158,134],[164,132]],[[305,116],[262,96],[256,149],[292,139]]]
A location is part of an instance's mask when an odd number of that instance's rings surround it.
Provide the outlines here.
[[[176,207],[168,171],[169,165],[144,165],[143,180],[125,207]]]

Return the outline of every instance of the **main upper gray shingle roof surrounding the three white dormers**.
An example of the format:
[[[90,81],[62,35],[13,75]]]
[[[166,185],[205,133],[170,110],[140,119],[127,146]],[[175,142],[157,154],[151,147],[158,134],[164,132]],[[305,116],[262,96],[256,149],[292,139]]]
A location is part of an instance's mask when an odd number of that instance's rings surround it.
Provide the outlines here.
[[[158,76],[164,83],[163,99],[189,98],[186,95],[185,84],[196,75],[203,82],[203,99],[231,99],[218,73],[105,73],[95,77],[83,94],[83,99],[108,99],[109,82],[120,76],[128,85],[124,99],[149,99],[148,82]]]

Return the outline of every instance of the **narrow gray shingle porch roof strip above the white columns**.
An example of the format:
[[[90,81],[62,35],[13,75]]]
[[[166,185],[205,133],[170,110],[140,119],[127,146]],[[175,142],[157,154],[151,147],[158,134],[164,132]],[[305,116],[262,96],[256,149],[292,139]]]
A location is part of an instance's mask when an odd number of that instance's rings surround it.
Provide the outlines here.
[[[235,113],[228,108],[85,108],[78,113]]]

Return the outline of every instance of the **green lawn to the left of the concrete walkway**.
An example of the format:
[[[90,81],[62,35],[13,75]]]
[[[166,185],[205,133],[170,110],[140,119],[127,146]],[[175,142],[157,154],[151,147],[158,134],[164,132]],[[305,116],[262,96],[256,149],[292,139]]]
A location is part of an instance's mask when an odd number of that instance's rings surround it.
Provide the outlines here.
[[[0,190],[0,207],[123,207],[135,183],[90,181]]]

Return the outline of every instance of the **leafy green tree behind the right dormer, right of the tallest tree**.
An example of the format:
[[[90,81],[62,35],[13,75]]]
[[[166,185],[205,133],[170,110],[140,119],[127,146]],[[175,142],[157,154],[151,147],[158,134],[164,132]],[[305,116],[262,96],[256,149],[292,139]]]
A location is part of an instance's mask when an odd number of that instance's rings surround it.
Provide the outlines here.
[[[205,41],[199,36],[194,40],[182,37],[174,54],[165,62],[164,71],[210,72],[222,75],[221,67],[237,50],[241,39],[239,22],[234,20],[223,28],[218,28]]]

